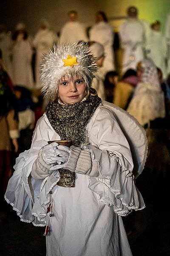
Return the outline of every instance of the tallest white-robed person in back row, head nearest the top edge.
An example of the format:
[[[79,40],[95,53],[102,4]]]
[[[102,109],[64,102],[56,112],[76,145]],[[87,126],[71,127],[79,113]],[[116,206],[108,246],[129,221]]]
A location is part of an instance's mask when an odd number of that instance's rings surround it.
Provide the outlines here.
[[[136,64],[144,58],[143,44],[145,26],[138,19],[138,10],[131,6],[127,9],[127,21],[119,27],[120,41],[123,48],[122,73],[128,69],[136,69]]]

